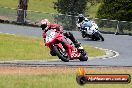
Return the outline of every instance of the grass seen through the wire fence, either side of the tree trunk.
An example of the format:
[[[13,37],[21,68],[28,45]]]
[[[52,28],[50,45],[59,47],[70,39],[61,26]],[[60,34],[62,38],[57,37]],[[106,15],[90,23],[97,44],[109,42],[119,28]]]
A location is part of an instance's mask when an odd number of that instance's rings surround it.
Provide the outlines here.
[[[49,21],[52,23],[55,22],[54,21],[55,14],[33,12],[33,11],[28,11],[27,13],[28,13],[27,20],[32,20],[33,22],[39,22],[40,20],[42,20],[44,18],[49,19]],[[16,21],[17,12],[15,9],[0,8],[0,19]]]

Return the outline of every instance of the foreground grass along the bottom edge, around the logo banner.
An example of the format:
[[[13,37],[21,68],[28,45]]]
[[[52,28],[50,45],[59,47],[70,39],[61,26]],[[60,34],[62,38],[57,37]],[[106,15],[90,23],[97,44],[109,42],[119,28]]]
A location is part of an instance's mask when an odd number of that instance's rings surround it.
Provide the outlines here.
[[[122,70],[115,69],[96,69],[88,70],[87,74],[121,74]],[[118,69],[118,68],[117,68]],[[90,72],[94,71],[94,72]],[[128,70],[125,70],[128,71]],[[132,76],[130,70],[127,72]],[[132,88],[129,84],[85,84],[80,86],[76,82],[76,73],[55,73],[55,74],[15,74],[0,75],[0,88]]]

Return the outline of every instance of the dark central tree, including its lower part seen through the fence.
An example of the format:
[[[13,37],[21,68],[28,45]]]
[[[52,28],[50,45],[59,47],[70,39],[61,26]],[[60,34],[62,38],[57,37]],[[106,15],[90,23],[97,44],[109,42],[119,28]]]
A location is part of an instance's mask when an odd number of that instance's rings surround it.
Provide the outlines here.
[[[61,22],[67,30],[76,29],[76,18],[74,16],[85,13],[87,2],[88,0],[57,0],[54,2],[54,9],[57,9],[61,14],[71,16],[59,15],[55,19]]]

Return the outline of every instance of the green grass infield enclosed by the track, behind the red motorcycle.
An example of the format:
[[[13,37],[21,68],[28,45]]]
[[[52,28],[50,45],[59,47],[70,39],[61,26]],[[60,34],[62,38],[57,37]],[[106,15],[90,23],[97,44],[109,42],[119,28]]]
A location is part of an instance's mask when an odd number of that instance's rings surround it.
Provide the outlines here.
[[[84,46],[90,57],[104,55],[105,52],[92,46]],[[55,59],[43,39],[0,34],[0,60],[44,60]]]

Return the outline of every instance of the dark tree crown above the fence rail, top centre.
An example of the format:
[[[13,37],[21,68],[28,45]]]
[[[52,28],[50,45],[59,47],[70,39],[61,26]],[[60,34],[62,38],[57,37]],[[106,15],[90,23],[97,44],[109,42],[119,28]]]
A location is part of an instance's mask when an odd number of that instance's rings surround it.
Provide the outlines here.
[[[87,2],[88,0],[57,0],[57,2],[54,2],[54,8],[62,14],[83,14],[87,8]]]

